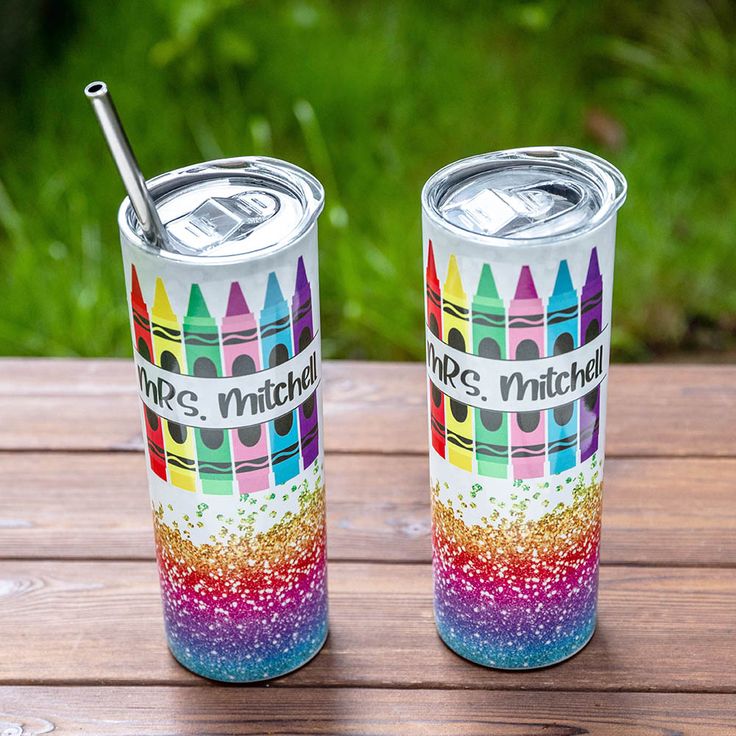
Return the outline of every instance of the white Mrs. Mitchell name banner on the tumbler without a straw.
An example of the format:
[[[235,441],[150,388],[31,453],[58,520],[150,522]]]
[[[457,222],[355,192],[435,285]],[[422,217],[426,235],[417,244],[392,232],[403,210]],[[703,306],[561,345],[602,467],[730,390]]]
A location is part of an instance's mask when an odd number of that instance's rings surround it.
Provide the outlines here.
[[[429,330],[427,373],[451,399],[480,409],[524,412],[576,401],[608,373],[608,327],[569,353],[538,360],[494,360],[450,347]]]

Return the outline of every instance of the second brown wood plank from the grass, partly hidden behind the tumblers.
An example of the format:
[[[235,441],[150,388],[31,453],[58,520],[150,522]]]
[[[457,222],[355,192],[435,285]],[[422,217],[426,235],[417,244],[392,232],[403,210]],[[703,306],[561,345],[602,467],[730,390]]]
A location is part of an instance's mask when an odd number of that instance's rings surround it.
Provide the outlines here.
[[[332,559],[430,560],[424,457],[326,470]],[[142,455],[0,453],[0,477],[0,557],[153,559]],[[612,458],[605,477],[604,562],[736,564],[736,459]]]

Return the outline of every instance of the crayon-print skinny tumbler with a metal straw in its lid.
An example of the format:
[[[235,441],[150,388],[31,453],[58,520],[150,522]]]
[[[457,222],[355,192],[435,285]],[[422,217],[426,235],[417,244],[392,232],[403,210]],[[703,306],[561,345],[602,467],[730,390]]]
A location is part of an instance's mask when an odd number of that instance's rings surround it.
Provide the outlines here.
[[[119,213],[169,648],[251,682],[327,636],[319,182],[241,158],[148,182],[164,247]]]

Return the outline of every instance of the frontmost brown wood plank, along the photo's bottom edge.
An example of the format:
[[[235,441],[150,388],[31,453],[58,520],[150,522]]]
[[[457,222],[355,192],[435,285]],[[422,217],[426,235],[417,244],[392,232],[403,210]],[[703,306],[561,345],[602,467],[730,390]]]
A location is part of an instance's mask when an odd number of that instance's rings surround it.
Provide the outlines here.
[[[736,722],[732,696],[702,693],[11,687],[0,703],[0,733],[26,736],[732,736]]]

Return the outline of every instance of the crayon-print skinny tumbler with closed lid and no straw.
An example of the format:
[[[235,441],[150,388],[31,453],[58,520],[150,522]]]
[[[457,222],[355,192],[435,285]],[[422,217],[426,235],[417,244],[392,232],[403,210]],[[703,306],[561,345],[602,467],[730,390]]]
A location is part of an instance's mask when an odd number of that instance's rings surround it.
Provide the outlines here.
[[[625,196],[572,148],[474,156],[422,193],[435,619],[488,667],[560,662],[595,629]]]

